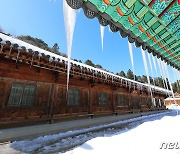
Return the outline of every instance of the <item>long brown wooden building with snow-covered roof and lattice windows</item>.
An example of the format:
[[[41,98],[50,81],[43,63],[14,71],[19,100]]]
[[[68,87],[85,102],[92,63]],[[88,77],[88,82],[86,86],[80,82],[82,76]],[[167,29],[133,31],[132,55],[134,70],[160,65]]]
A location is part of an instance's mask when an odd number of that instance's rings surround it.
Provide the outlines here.
[[[67,63],[0,33],[0,127],[160,110],[171,94],[73,60],[67,92]]]

